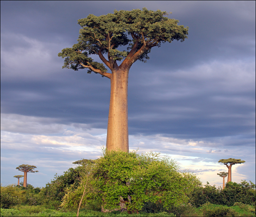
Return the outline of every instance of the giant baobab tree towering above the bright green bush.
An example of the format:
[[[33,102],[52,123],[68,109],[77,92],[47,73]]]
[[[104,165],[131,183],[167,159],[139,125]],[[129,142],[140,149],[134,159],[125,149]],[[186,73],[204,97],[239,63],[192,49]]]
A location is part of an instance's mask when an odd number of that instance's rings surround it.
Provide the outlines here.
[[[188,38],[188,27],[177,25],[178,20],[165,15],[168,15],[165,11],[147,8],[114,10],[113,14],[99,17],[89,14],[87,18],[78,20],[83,27],[78,43],[58,54],[65,58],[62,68],[75,71],[87,68],[88,73],[95,72],[110,79],[107,150],[129,152],[127,88],[131,65],[137,60],[146,62],[152,47],[160,47],[161,43],[173,40],[183,42]],[[117,49],[126,45],[126,51]],[[93,54],[99,56],[111,73],[107,72],[104,64],[89,57]]]

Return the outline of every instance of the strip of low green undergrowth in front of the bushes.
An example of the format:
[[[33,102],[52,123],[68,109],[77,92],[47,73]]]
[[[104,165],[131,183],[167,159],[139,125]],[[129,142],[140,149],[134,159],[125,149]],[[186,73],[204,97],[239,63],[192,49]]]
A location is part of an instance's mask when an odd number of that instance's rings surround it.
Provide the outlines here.
[[[76,210],[64,212],[63,210],[46,209],[43,206],[16,206],[14,209],[1,209],[1,216],[76,216]],[[175,214],[173,214],[175,213]],[[79,216],[255,216],[255,207],[236,203],[232,207],[206,203],[202,207],[192,206],[173,209],[173,213],[139,212],[128,214],[127,212],[113,211],[102,213],[92,210],[81,209]]]

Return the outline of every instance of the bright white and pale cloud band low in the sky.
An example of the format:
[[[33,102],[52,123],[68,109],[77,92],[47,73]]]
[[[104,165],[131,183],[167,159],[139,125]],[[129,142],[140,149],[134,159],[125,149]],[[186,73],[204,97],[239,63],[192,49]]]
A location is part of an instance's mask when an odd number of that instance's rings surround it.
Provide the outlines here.
[[[14,169],[24,162],[38,165],[42,176],[31,175],[30,180],[33,182],[40,176],[42,183],[39,186],[44,186],[46,182],[49,182],[49,178],[52,179],[55,173],[60,174],[74,167],[72,162],[78,159],[100,157],[101,148],[106,144],[106,129],[89,128],[86,124],[65,125],[58,124],[59,120],[54,118],[15,114],[2,114],[1,119],[1,153],[3,152],[3,157],[1,157],[3,172],[1,173],[4,174],[3,177],[8,174],[7,165],[11,164]],[[226,167],[218,163],[219,159],[232,156],[245,159],[246,156],[245,160],[248,164],[244,168],[253,167],[250,164],[254,159],[251,156],[251,149],[243,150],[236,146],[227,149],[225,142],[231,141],[232,137],[222,138],[219,141],[197,141],[160,134],[129,136],[130,151],[139,148],[138,153],[153,151],[161,152],[161,155],[167,154],[178,162],[181,170],[195,171],[203,184],[208,181],[210,184],[220,186],[222,180],[218,179],[217,173],[226,170]],[[233,181],[240,182],[241,179],[248,179],[246,170],[238,172],[242,166],[232,167]],[[11,173],[17,175],[14,169]],[[1,179],[4,178],[1,177]],[[1,182],[5,183],[5,181]]]

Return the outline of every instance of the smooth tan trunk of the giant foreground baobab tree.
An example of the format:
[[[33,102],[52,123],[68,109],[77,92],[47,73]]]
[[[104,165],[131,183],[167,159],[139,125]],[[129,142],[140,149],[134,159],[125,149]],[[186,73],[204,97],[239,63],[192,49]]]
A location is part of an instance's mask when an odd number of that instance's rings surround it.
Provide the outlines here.
[[[129,152],[128,143],[128,70],[112,71],[107,150]]]

